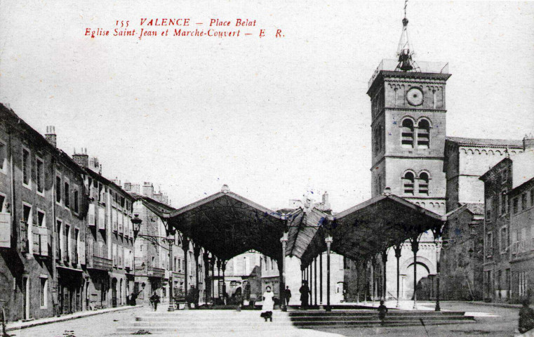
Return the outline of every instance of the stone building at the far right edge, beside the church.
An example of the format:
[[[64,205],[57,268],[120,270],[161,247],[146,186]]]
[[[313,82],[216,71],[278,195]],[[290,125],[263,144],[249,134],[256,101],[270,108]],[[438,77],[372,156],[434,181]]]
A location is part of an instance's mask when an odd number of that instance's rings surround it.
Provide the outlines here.
[[[532,280],[530,180],[534,177],[533,140],[523,152],[507,155],[480,177],[484,184],[483,296],[488,301],[518,302]],[[534,193],[534,192],[533,192]],[[512,225],[512,218],[514,223]]]

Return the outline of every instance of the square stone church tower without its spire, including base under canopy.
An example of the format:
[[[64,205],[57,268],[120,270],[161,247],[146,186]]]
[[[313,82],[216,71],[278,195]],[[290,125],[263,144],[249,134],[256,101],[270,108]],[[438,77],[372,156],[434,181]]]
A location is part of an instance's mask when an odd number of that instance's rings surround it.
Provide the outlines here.
[[[371,98],[372,165],[371,195],[380,195],[386,187],[392,194],[429,211],[446,213],[446,174],[443,157],[446,142],[446,64],[419,62],[421,72],[395,71],[398,62],[382,60],[369,81]],[[436,246],[432,232],[419,239],[417,263],[410,242],[399,242],[399,297],[413,298],[413,269],[418,280],[436,274]],[[383,270],[384,260],[375,258],[371,296],[396,298],[396,256],[387,252],[387,289],[375,279]],[[375,291],[378,291],[376,293]],[[389,292],[388,292],[389,291]]]

